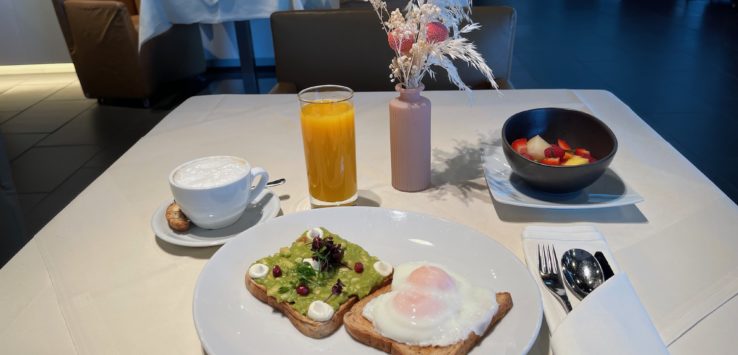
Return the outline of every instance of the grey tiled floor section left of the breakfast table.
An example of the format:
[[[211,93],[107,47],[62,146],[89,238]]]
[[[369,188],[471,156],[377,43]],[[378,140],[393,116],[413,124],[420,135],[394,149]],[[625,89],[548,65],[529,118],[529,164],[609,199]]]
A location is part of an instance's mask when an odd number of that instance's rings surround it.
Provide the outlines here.
[[[0,264],[167,112],[100,106],[75,73],[0,76],[0,155],[16,192],[2,205]]]

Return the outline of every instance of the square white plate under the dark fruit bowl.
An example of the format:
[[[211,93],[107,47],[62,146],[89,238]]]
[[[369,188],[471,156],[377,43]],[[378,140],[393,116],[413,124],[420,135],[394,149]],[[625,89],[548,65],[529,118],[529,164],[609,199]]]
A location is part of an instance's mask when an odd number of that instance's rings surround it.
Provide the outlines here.
[[[589,209],[632,205],[643,197],[612,170],[581,191],[552,194],[535,190],[514,175],[497,139],[484,154],[484,176],[492,197],[506,205],[551,209]]]

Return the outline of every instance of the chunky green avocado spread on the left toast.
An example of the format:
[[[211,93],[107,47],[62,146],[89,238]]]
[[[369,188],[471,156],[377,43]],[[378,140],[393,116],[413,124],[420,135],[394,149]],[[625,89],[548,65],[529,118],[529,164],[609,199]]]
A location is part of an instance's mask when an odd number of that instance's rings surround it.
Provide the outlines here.
[[[335,244],[343,249],[343,259],[340,267],[326,268],[327,270],[313,271],[303,259],[312,259],[314,251],[311,249],[312,238],[309,231],[304,232],[292,245],[282,248],[278,253],[259,259],[255,263],[267,265],[270,272],[263,278],[254,279],[259,285],[266,287],[267,295],[281,302],[288,302],[292,308],[307,315],[308,307],[313,301],[324,301],[338,310],[338,307],[351,296],[362,298],[371,292],[375,285],[382,282],[384,277],[374,270],[374,263],[379,259],[369,255],[362,247],[351,243],[337,234],[323,230],[323,240],[333,238]],[[363,265],[363,272],[355,271],[355,264]],[[271,270],[278,265],[282,270],[280,277],[274,277]],[[340,293],[332,293],[337,280],[343,284]],[[304,284],[309,292],[299,295],[297,287]]]

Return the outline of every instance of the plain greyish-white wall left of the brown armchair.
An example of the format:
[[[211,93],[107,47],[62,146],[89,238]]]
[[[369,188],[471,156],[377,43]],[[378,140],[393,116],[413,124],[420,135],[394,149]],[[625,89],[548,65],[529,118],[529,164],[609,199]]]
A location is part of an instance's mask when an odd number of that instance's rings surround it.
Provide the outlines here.
[[[69,62],[51,0],[0,0],[0,65]]]

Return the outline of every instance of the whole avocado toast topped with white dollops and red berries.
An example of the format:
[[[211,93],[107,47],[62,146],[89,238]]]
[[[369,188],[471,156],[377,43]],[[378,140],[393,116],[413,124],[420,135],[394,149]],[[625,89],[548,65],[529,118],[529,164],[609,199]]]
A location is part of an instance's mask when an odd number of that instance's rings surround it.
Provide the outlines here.
[[[301,333],[323,338],[340,328],[359,299],[391,280],[389,264],[325,228],[313,228],[251,264],[246,288]]]

